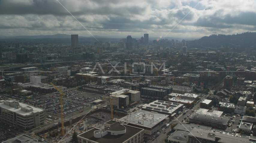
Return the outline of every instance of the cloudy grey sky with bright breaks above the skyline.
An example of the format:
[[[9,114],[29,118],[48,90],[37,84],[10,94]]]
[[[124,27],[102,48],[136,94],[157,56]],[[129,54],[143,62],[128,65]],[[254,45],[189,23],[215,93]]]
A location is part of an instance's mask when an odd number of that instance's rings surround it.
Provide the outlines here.
[[[58,1],[93,35],[181,38],[256,31],[255,0]],[[58,1],[0,0],[0,35],[91,36]]]

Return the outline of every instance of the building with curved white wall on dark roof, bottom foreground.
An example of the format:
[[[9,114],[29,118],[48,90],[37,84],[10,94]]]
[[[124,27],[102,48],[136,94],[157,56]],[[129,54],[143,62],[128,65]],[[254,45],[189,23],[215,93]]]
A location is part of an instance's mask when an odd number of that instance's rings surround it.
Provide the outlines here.
[[[144,129],[110,120],[105,128],[92,128],[77,136],[79,143],[142,143]]]

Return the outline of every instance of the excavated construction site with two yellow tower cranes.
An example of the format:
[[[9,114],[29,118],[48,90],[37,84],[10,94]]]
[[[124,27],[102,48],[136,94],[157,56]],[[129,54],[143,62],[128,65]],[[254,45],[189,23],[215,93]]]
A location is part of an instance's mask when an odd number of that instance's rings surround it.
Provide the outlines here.
[[[52,84],[52,83],[51,83]],[[91,128],[100,128],[103,129],[104,123],[109,120],[118,120],[127,115],[125,112],[114,111],[113,109],[113,95],[110,97],[110,108],[100,108],[96,106],[92,108],[87,114],[77,116],[76,118],[64,119],[63,116],[63,97],[66,97],[58,87],[52,84],[60,92],[60,106],[61,106],[61,122],[55,123],[53,126],[44,128],[41,131],[31,133],[31,136],[34,138],[39,138],[39,140],[47,140],[50,142],[58,141],[69,141],[70,136],[73,132],[77,133],[85,132]],[[110,109],[110,110],[109,110]]]

